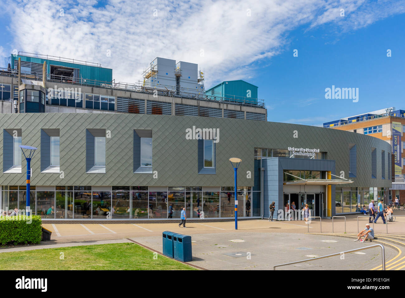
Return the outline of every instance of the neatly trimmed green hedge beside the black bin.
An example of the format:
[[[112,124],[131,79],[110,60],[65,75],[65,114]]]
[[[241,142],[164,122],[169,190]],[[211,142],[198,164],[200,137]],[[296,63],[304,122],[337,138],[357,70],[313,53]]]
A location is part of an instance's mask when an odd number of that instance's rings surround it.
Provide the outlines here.
[[[41,234],[42,220],[38,215],[0,217],[1,245],[38,244]]]

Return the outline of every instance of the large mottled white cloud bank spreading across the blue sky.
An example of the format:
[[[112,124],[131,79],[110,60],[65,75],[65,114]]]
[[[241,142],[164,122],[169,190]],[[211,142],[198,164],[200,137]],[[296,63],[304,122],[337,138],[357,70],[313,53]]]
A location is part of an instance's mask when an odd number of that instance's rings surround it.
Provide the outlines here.
[[[255,84],[256,62],[281,52],[286,34],[298,26],[335,22],[356,29],[405,7],[403,1],[362,0],[111,0],[99,8],[85,0],[6,3],[13,45],[20,50],[100,62],[113,69],[115,81],[130,83],[142,81],[143,69],[157,56],[194,62],[205,69],[206,87],[247,78]],[[341,6],[345,18],[336,16]]]

